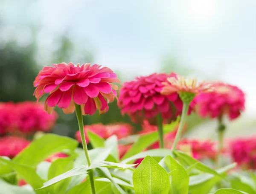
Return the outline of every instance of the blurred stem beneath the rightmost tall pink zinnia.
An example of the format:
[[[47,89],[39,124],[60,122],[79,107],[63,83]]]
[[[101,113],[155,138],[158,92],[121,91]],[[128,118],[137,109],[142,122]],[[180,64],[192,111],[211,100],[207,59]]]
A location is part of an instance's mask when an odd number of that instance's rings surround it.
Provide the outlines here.
[[[223,124],[222,115],[218,117],[218,151],[216,154],[216,167],[221,167],[221,151],[223,149],[223,138],[226,126]]]

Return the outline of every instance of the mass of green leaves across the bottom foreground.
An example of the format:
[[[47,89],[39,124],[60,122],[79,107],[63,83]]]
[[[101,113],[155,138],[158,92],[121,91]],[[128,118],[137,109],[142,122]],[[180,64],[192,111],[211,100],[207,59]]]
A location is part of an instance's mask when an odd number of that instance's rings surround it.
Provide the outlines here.
[[[175,127],[175,126],[172,126]],[[34,140],[15,158],[0,158],[0,194],[90,194],[87,173],[93,169],[97,194],[255,194],[255,185],[240,175],[228,175],[235,163],[214,170],[186,153],[168,149],[135,151],[120,161],[117,139],[104,141],[89,134],[94,149],[89,151],[88,167],[84,152],[74,139],[46,134]],[[144,150],[152,136],[136,144]],[[70,156],[49,163],[53,153],[65,151]],[[144,158],[135,168],[131,162]],[[161,158],[160,162],[159,158]],[[157,159],[157,160],[156,160]],[[253,175],[252,175],[253,176]],[[18,180],[28,185],[17,186]],[[241,181],[242,180],[242,181]],[[240,182],[240,183],[239,183]],[[220,188],[217,185],[231,188]],[[241,191],[239,191],[241,190]]]

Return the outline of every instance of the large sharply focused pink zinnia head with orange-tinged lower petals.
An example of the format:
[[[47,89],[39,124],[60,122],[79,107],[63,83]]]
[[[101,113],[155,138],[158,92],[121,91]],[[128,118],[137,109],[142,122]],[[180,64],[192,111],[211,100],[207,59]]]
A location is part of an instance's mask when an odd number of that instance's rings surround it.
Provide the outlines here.
[[[34,95],[38,100],[44,94],[50,94],[44,104],[47,113],[52,113],[56,105],[64,113],[73,113],[75,103],[81,105],[83,115],[93,115],[96,110],[100,114],[108,111],[108,103],[114,100],[118,89],[111,83],[120,83],[111,69],[71,62],[52,66],[44,67],[34,81]]]

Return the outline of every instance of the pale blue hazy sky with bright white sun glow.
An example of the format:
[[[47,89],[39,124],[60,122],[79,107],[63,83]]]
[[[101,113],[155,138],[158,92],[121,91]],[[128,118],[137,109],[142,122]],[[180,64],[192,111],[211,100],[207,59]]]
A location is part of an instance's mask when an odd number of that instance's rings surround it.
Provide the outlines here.
[[[51,37],[68,31],[74,42],[93,51],[93,63],[125,75],[160,71],[164,56],[175,57],[240,87],[246,113],[256,115],[255,0],[14,2],[3,0],[0,13],[20,41],[29,37],[28,23],[40,26],[41,43],[48,47]]]

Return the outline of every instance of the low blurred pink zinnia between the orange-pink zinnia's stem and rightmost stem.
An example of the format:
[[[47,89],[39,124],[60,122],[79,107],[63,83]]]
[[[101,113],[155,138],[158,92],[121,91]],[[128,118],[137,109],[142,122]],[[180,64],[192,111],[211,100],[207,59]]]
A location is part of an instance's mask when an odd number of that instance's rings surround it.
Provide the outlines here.
[[[192,152],[195,159],[212,159],[215,160],[216,150],[215,142],[211,140],[198,140],[198,139],[182,139],[178,143],[179,150],[184,151],[187,148]]]

